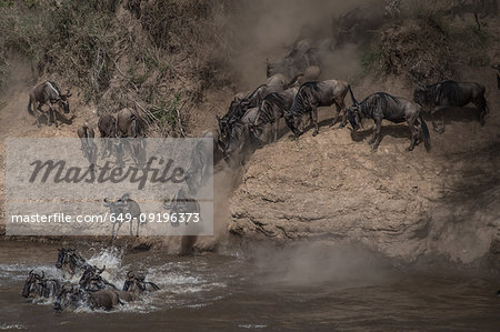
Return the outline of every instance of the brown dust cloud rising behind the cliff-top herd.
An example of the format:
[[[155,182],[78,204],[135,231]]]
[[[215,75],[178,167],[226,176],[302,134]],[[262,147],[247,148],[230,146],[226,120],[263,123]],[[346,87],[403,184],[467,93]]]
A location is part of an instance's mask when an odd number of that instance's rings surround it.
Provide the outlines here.
[[[230,44],[236,51],[232,67],[240,90],[266,81],[266,61],[276,62],[290,47],[306,37],[332,39],[332,19],[369,1],[279,0],[238,1],[229,21]],[[332,40],[334,42],[334,40]],[[348,44],[323,54],[321,79],[348,79],[358,69],[359,50]]]

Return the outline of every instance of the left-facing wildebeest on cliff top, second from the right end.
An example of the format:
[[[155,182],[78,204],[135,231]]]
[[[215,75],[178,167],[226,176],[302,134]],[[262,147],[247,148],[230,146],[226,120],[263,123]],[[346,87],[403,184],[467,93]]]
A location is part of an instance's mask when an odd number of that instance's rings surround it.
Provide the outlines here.
[[[351,91],[352,93],[352,91]],[[352,95],[352,94],[351,94]],[[430,149],[429,130],[426,121],[423,121],[420,107],[403,98],[392,97],[388,93],[377,92],[367,97],[361,103],[358,103],[352,95],[354,104],[347,109],[349,121],[354,130],[359,129],[359,123],[363,118],[373,119],[373,135],[368,142],[373,144],[376,151],[381,140],[382,119],[394,123],[407,121],[411,133],[411,143],[407,151],[413,150],[419,133],[423,137],[426,149]],[[420,125],[418,121],[420,120]]]

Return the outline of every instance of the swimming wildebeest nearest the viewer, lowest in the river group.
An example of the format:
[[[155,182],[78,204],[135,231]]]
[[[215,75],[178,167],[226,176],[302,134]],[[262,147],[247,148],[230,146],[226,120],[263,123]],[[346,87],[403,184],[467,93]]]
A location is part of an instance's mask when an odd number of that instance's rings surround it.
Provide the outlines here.
[[[114,290],[89,292],[78,286],[64,285],[56,299],[53,309],[60,312],[67,308],[78,308],[81,303],[88,304],[91,309],[104,310],[122,304],[118,291]]]

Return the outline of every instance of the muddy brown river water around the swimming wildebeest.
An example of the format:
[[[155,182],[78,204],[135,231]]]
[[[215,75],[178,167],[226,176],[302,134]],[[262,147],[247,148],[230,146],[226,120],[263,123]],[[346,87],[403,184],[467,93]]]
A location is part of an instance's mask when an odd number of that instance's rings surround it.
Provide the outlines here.
[[[140,270],[161,290],[110,312],[81,308],[56,313],[52,301],[29,303],[21,290],[31,269],[60,276],[54,268],[57,247],[3,241],[0,330],[498,331],[500,326],[500,282],[484,273],[409,272],[338,256],[314,263],[306,256],[290,263],[296,254],[180,258],[88,247],[82,255],[106,264],[106,276],[120,286],[127,271]]]

